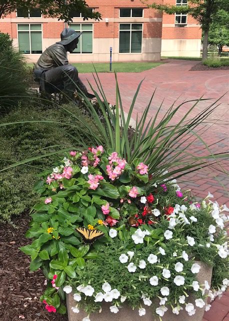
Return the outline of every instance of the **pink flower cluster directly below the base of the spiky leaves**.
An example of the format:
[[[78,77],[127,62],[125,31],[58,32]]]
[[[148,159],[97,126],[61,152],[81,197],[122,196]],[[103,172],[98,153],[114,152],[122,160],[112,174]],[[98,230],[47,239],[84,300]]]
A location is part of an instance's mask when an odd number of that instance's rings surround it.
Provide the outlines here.
[[[114,181],[123,173],[126,161],[124,158],[118,157],[116,151],[112,152],[108,159],[110,165],[106,165],[106,173],[109,176],[109,179]]]

